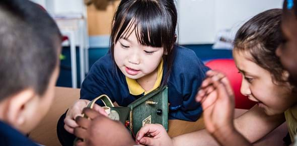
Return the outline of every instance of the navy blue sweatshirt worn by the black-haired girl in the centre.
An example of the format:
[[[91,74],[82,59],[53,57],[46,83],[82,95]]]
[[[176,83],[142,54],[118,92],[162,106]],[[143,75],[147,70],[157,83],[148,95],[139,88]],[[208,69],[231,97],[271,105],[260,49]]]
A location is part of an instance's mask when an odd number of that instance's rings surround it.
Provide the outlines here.
[[[97,60],[83,82],[81,99],[93,100],[106,94],[112,102],[127,106],[141,97],[142,95],[134,96],[129,93],[125,76],[121,71],[116,71],[115,66],[110,53]],[[202,108],[195,101],[195,96],[208,69],[193,50],[176,47],[176,56],[167,83],[169,119],[196,121],[200,117]],[[166,69],[163,71],[162,81],[165,75]]]

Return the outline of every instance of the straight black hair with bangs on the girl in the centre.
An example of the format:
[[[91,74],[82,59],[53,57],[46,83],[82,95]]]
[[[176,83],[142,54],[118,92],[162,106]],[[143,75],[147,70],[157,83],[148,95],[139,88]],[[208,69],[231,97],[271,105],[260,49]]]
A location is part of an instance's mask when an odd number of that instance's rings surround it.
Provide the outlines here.
[[[122,0],[115,12],[111,30],[111,56],[114,64],[115,43],[135,30],[140,44],[164,48],[166,75],[163,85],[166,84],[175,56],[176,25],[177,11],[172,0]]]

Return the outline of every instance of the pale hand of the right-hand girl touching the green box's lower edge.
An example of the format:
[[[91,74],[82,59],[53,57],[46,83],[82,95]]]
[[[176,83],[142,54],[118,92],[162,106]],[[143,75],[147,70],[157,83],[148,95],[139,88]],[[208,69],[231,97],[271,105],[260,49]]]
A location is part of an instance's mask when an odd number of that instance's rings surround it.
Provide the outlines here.
[[[160,124],[146,124],[136,134],[136,143],[143,145],[173,145],[165,128]]]

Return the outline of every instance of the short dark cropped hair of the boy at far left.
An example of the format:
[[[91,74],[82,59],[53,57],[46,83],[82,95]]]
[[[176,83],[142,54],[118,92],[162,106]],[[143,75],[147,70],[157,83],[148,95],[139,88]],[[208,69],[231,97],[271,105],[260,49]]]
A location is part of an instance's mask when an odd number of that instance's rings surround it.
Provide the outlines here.
[[[60,43],[56,23],[39,5],[0,1],[0,100],[24,89],[43,95],[57,66]]]

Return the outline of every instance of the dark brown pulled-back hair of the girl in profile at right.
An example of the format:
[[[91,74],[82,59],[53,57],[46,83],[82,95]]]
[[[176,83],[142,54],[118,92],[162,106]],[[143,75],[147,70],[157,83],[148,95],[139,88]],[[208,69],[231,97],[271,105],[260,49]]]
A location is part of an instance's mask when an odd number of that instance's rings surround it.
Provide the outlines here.
[[[271,73],[274,84],[286,82],[275,54],[282,41],[281,14],[281,9],[271,9],[254,16],[238,30],[234,40],[234,51],[248,52],[252,61]]]

